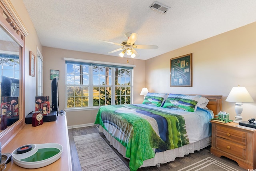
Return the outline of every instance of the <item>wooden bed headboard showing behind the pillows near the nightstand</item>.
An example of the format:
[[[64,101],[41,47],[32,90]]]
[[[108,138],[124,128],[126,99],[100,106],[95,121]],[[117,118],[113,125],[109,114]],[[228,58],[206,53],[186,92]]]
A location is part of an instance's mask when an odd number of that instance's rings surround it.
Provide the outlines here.
[[[218,113],[221,111],[222,95],[201,95],[201,96],[209,100],[209,103],[206,107],[212,110],[214,113],[214,117],[216,117],[215,115],[218,115]]]

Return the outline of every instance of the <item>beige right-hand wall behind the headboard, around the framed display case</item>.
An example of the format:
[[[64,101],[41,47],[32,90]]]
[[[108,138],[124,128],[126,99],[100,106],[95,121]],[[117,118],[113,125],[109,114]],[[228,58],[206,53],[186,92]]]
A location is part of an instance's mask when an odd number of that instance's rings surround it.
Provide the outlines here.
[[[234,119],[232,87],[246,87],[256,101],[256,22],[146,60],[150,92],[223,95],[222,111]],[[192,53],[192,87],[170,87],[170,58]],[[244,103],[243,120],[256,117],[256,102]]]

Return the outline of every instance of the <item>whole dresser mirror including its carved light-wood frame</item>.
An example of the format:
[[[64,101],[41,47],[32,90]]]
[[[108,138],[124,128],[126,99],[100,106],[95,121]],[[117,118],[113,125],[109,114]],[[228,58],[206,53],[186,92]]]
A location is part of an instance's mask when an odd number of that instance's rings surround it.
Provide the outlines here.
[[[9,0],[0,1],[0,142],[24,127],[24,42],[28,35]]]

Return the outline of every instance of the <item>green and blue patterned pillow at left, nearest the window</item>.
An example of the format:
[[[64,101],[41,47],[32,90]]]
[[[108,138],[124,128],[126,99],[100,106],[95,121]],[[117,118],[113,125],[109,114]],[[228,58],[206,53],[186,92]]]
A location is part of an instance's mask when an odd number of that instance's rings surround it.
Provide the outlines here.
[[[157,107],[162,106],[167,94],[166,93],[147,93],[143,104],[154,105]]]

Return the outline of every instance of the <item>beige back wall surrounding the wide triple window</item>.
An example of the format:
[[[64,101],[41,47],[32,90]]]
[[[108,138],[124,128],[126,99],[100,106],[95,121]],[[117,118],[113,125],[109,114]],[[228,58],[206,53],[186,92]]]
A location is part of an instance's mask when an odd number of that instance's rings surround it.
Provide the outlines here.
[[[57,48],[43,47],[43,79],[44,79],[44,95],[51,96],[51,80],[50,80],[50,70],[60,70],[60,80],[59,83],[59,99],[60,99],[60,109],[65,107],[65,61],[63,58],[76,58],[82,60],[94,60],[103,62],[113,62],[119,64],[135,65],[134,68],[134,82],[133,82],[133,103],[142,103],[143,96],[140,95],[140,91],[145,84],[145,61],[136,60],[131,58],[120,58],[115,56],[107,56],[100,54],[91,54],[86,52],[77,52],[72,50],[64,50]],[[67,121],[68,126],[70,125],[83,125],[94,123],[96,114],[98,110],[82,110],[82,111],[68,111]]]

